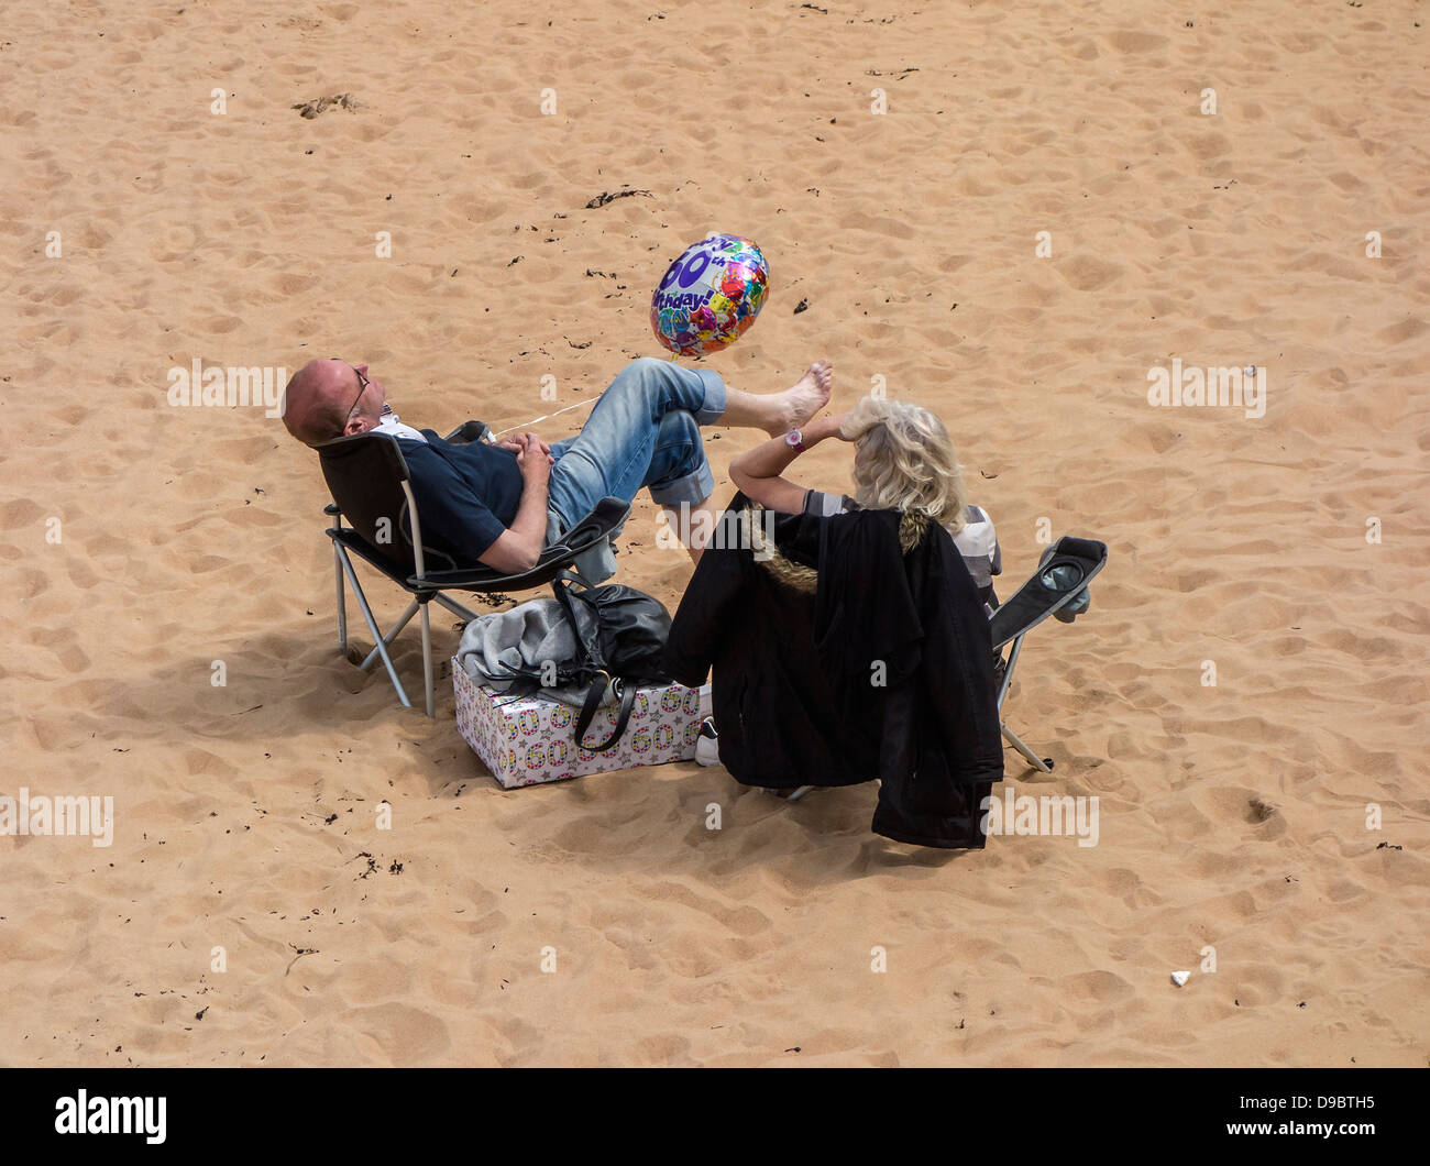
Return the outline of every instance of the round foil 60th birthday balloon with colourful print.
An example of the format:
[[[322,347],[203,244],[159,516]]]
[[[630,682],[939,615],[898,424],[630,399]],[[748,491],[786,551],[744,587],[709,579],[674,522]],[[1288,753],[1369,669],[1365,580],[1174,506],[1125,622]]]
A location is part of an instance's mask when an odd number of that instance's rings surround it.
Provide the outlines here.
[[[738,235],[711,235],[666,269],[651,298],[651,329],[682,356],[719,352],[755,322],[768,292],[759,248]]]

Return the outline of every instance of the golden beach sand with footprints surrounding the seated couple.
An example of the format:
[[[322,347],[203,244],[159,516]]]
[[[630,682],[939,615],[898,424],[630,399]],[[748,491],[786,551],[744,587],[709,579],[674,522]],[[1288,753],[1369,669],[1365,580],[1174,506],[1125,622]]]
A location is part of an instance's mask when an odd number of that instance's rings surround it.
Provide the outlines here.
[[[6,16],[0,793],[116,823],[0,837],[0,1062],[1427,1063],[1419,6]],[[828,356],[837,406],[935,408],[1004,592],[1040,534],[1108,544],[1007,707],[1057,763],[1008,781],[1095,795],[1095,847],[919,850],[872,787],[694,763],[503,793],[448,680],[428,721],[336,654],[315,458],[167,399],[194,359],[342,355],[405,421],[515,425],[659,355],[651,290],[708,230],[772,268],[709,368]],[[1263,368],[1264,415],[1150,405],[1174,358]],[[755,441],[714,431],[722,496]],[[642,498],[619,579],[674,607],[655,529]],[[420,688],[415,634],[399,661]]]

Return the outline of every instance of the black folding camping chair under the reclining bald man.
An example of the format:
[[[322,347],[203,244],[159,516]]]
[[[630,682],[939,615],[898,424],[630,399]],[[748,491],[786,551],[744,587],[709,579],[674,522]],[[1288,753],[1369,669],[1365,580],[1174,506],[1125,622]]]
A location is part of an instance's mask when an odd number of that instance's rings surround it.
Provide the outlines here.
[[[455,429],[446,441],[453,444],[482,441],[486,432],[486,425],[469,421]],[[343,654],[347,651],[347,608],[343,589],[346,579],[375,641],[373,650],[360,667],[366,672],[382,660],[392,687],[398,690],[398,700],[403,708],[410,708],[412,702],[388,648],[412,617],[420,614],[422,680],[429,717],[436,715],[436,700],[432,684],[432,629],[428,605],[436,599],[455,615],[475,619],[475,611],[443,592],[529,591],[548,582],[555,589],[562,579],[579,579],[579,568],[572,571],[566,568],[578,555],[609,539],[631,512],[629,504],[621,498],[603,498],[591,514],[566,531],[559,542],[542,551],[531,571],[518,575],[502,575],[489,567],[462,568],[450,557],[422,545],[422,521],[418,516],[416,499],[412,496],[408,461],[402,456],[396,438],[389,433],[356,433],[317,446],[317,454],[323,465],[323,479],[333,496],[333,505],[323,506],[323,514],[333,519],[333,525],[325,534],[333,544],[333,572],[337,579],[337,651]],[[345,526],[343,518],[350,525]],[[408,609],[386,634],[378,627],[368,597],[358,582],[352,555],[366,561],[412,597]],[[429,559],[445,561],[448,569],[429,571]]]

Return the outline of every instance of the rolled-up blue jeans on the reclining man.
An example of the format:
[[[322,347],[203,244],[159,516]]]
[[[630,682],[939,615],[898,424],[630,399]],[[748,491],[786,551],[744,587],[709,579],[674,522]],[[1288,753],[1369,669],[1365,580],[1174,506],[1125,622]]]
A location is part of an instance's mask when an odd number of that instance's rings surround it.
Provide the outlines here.
[[[701,425],[725,412],[725,382],[655,356],[632,361],[573,438],[551,448],[551,531],[568,531],[602,498],[632,501],[642,486],[662,506],[699,502],[715,489]]]

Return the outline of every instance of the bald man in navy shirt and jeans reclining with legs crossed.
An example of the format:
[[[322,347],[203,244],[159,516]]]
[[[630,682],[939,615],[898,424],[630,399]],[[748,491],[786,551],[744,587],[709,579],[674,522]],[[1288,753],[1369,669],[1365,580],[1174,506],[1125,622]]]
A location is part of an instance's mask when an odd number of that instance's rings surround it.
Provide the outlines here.
[[[455,567],[478,562],[515,575],[602,499],[641,491],[679,515],[676,529],[712,531],[715,476],[702,425],[762,429],[802,448],[799,426],[829,401],[832,369],[817,361],[776,393],[731,389],[709,369],[644,356],[626,365],[573,438],[548,445],[536,433],[496,444],[450,445],[432,429],[403,425],[368,365],[312,361],[287,382],[283,425],[309,446],[355,433],[390,433],[412,475],[422,541]],[[699,558],[694,539],[682,538]],[[615,564],[606,561],[602,578]],[[593,579],[599,582],[601,579]]]

